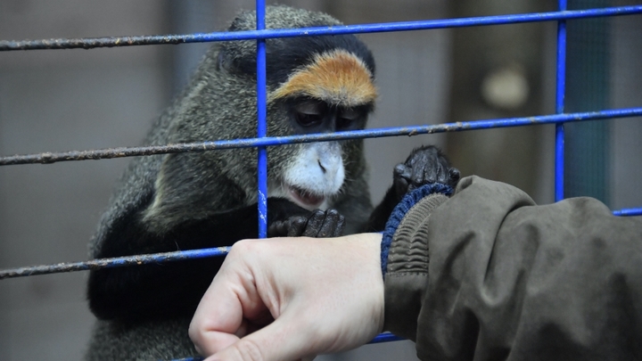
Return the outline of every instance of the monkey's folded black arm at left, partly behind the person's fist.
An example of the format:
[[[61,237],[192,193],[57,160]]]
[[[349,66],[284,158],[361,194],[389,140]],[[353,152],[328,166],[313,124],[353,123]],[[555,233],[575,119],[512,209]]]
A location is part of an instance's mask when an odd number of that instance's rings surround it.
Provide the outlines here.
[[[308,215],[290,201],[268,200],[270,219]],[[116,221],[101,242],[96,258],[232,245],[258,234],[257,207],[252,205],[190,220],[166,234],[152,234],[135,215]],[[140,320],[191,316],[223,258],[202,258],[137,267],[104,268],[89,275],[87,296],[95,316]]]

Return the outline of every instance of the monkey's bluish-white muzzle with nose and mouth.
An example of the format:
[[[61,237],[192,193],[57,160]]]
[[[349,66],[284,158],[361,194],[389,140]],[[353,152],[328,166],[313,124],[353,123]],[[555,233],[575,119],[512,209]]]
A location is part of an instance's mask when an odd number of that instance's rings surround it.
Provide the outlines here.
[[[304,209],[327,209],[328,199],[339,193],[345,171],[337,142],[303,144],[285,168],[282,185],[268,187],[268,196],[284,197]]]

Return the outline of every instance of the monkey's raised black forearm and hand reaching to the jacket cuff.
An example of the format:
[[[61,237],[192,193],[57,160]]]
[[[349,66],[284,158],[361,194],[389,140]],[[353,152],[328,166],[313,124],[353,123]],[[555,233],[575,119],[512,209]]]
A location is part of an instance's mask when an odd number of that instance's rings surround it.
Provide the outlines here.
[[[393,171],[392,186],[383,201],[376,206],[361,232],[381,232],[392,210],[406,193],[421,185],[441,183],[455,189],[459,182],[459,170],[451,168],[449,160],[432,145],[424,145],[410,153],[404,163]]]

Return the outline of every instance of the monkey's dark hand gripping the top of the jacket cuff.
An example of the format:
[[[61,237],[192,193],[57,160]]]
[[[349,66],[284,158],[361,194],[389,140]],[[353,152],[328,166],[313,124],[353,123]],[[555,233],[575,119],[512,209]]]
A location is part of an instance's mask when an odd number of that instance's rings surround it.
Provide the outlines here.
[[[415,149],[404,163],[394,168],[393,186],[398,201],[422,185],[440,183],[452,188],[459,182],[459,170],[451,168],[449,160],[432,145]]]

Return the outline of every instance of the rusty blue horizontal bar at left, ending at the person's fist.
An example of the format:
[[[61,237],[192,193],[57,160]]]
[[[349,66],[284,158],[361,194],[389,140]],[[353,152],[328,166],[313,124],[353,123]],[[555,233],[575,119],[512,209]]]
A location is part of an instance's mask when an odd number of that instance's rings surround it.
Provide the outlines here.
[[[83,262],[64,262],[53,265],[29,266],[0,270],[0,280],[25,277],[28,275],[49,275],[62,272],[88,271],[92,269],[113,268],[164,263],[194,258],[225,256],[231,247],[217,247],[203,250],[177,250],[175,252],[153,253],[136,256],[99,258]]]

